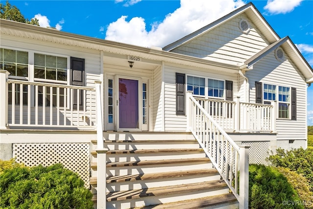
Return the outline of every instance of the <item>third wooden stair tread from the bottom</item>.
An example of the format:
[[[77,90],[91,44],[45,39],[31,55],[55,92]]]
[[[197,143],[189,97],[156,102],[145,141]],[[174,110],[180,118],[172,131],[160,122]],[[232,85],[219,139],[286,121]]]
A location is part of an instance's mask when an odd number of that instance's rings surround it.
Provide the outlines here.
[[[165,178],[175,178],[183,176],[193,176],[202,174],[218,174],[215,168],[207,169],[196,169],[196,170],[182,170],[176,172],[161,172],[161,173],[146,173],[146,174],[134,174],[134,175],[124,175],[124,176],[111,176],[107,177],[107,184],[115,182],[130,182],[138,180],[151,180],[151,179],[165,179]],[[90,185],[97,184],[97,177],[90,177]]]

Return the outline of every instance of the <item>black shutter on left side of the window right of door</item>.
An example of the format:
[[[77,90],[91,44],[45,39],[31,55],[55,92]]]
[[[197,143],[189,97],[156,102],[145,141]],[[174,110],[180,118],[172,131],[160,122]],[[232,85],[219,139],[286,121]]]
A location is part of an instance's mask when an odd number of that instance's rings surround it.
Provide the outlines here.
[[[185,74],[176,73],[176,115],[185,115]]]

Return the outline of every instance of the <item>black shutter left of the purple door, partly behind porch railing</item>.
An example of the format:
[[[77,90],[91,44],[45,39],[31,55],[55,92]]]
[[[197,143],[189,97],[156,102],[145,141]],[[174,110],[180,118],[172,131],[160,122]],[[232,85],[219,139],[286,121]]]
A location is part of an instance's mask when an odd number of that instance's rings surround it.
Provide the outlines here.
[[[70,58],[70,70],[71,70],[71,81],[70,85],[73,86],[84,86],[85,80],[85,59],[81,58]],[[83,90],[79,91],[79,104],[77,104],[77,90],[73,91],[73,108],[83,110]]]

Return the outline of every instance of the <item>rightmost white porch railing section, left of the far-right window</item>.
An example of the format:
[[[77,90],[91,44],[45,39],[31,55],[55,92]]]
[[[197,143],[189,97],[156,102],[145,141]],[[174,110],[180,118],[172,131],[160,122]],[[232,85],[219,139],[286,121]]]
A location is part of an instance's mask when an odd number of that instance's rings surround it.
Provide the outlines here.
[[[240,103],[240,130],[242,131],[275,131],[274,103],[253,104]]]

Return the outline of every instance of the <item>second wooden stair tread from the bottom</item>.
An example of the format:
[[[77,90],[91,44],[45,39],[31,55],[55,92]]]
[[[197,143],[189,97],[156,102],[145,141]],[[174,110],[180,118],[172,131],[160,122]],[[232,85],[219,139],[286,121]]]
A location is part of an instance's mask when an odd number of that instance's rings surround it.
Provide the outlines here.
[[[223,180],[200,182],[185,185],[161,186],[146,189],[134,189],[128,191],[117,191],[107,193],[107,201],[128,200],[141,197],[151,197],[158,195],[169,195],[180,192],[199,191],[210,188],[222,188],[227,186]]]

